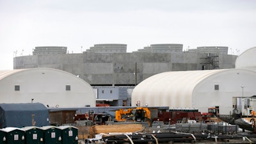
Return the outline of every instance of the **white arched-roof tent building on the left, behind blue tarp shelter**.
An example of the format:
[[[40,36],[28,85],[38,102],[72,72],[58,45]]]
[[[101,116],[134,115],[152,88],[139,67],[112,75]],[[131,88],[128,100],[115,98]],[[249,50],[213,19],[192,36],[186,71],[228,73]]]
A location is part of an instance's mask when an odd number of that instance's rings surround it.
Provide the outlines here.
[[[2,103],[40,102],[49,107],[95,106],[92,86],[79,77],[52,68],[0,71]]]

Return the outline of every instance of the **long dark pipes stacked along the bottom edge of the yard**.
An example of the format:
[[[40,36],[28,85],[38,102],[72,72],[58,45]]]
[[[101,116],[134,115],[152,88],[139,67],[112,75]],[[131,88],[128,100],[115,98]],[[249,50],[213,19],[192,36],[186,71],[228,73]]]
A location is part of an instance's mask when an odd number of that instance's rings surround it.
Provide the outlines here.
[[[211,134],[189,134],[179,132],[164,133],[125,133],[125,134],[99,134],[94,141],[86,143],[124,144],[124,143],[255,143],[253,136],[228,136]],[[104,135],[104,136],[102,136]]]

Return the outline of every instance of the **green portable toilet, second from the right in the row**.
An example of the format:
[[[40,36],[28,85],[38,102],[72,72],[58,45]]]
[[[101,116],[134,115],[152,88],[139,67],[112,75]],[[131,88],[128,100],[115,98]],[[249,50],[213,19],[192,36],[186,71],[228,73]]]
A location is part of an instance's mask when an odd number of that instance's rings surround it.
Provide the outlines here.
[[[61,144],[61,129],[52,125],[41,127],[44,130],[44,144]]]

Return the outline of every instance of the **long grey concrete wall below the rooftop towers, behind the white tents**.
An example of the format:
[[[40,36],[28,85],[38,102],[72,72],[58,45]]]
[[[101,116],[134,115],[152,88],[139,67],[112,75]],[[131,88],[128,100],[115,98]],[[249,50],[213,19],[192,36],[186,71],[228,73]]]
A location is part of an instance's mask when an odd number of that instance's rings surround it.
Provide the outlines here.
[[[236,57],[220,55],[219,68],[234,68]],[[92,85],[134,86],[161,72],[202,70],[202,65],[206,65],[202,63],[207,63],[204,58],[207,54],[196,52],[40,54],[14,58],[13,68],[56,68],[79,76]]]

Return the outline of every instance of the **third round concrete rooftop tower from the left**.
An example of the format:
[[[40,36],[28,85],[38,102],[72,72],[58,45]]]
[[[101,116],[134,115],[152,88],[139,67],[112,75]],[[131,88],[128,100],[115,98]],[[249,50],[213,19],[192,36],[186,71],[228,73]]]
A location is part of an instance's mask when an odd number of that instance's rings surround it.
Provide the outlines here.
[[[182,44],[152,44],[138,52],[182,52]]]

